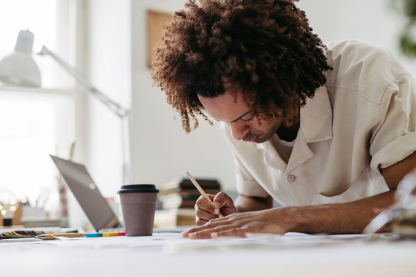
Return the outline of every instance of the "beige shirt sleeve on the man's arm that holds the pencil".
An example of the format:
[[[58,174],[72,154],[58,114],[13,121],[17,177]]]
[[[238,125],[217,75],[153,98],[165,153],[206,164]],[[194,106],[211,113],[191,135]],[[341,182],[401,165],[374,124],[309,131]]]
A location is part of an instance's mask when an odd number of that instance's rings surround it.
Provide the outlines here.
[[[252,177],[248,168],[244,165],[243,161],[239,158],[239,145],[234,145],[232,143],[232,136],[229,132],[229,129],[225,125],[225,123],[221,124],[221,132],[227,142],[227,145],[232,151],[234,156],[234,162],[236,165],[236,182],[237,182],[237,191],[241,195],[245,195],[248,197],[267,197],[268,193],[264,188]]]

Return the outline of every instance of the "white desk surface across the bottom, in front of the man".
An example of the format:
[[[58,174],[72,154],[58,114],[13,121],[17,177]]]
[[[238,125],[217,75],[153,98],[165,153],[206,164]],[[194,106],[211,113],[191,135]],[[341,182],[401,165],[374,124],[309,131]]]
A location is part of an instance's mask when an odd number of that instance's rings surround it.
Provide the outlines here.
[[[416,276],[416,241],[348,235],[141,238],[0,244],[1,276]]]

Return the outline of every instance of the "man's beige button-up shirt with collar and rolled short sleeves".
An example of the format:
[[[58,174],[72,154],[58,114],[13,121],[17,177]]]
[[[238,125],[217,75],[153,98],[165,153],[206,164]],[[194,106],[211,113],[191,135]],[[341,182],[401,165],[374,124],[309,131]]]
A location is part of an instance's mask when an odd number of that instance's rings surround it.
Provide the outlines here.
[[[406,69],[367,42],[327,47],[333,71],[300,111],[288,163],[271,139],[236,141],[221,123],[240,194],[271,195],[284,206],[351,202],[388,191],[379,168],[416,150],[416,91]]]

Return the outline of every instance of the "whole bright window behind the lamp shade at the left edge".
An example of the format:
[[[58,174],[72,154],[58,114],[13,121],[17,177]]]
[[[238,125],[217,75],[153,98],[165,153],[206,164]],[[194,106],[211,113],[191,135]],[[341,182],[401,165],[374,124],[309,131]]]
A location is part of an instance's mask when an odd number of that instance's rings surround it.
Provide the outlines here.
[[[0,193],[11,190],[32,203],[42,190],[58,201],[58,171],[49,154],[68,157],[75,137],[74,82],[68,82],[71,78],[51,57],[35,55],[46,45],[64,60],[75,56],[68,53],[71,47],[64,46],[63,52],[58,47],[69,36],[64,31],[69,17],[62,17],[69,1],[0,3],[0,59],[14,50],[19,30],[29,29],[35,35],[33,57],[42,75],[43,89],[0,85]]]

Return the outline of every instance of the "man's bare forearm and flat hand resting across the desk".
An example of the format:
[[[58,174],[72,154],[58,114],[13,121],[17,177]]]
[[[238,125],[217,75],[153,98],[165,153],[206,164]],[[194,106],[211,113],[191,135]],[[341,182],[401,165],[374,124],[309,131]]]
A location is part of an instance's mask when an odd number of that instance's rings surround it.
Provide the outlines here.
[[[214,219],[212,218],[216,215],[211,210],[211,213],[207,213],[212,216],[209,222],[183,232],[182,237],[191,239],[221,236],[243,237],[246,233],[284,234],[287,232],[361,233],[368,222],[374,218],[374,208],[391,205],[394,193],[394,191],[388,191],[340,204],[286,206],[263,211],[234,212],[231,215],[225,213],[226,210],[224,210],[224,215],[227,216]],[[213,198],[215,199],[215,197]],[[234,205],[229,206],[233,207]],[[202,211],[205,210],[198,208],[198,215],[206,216],[207,214]],[[206,221],[204,220],[204,222]]]

